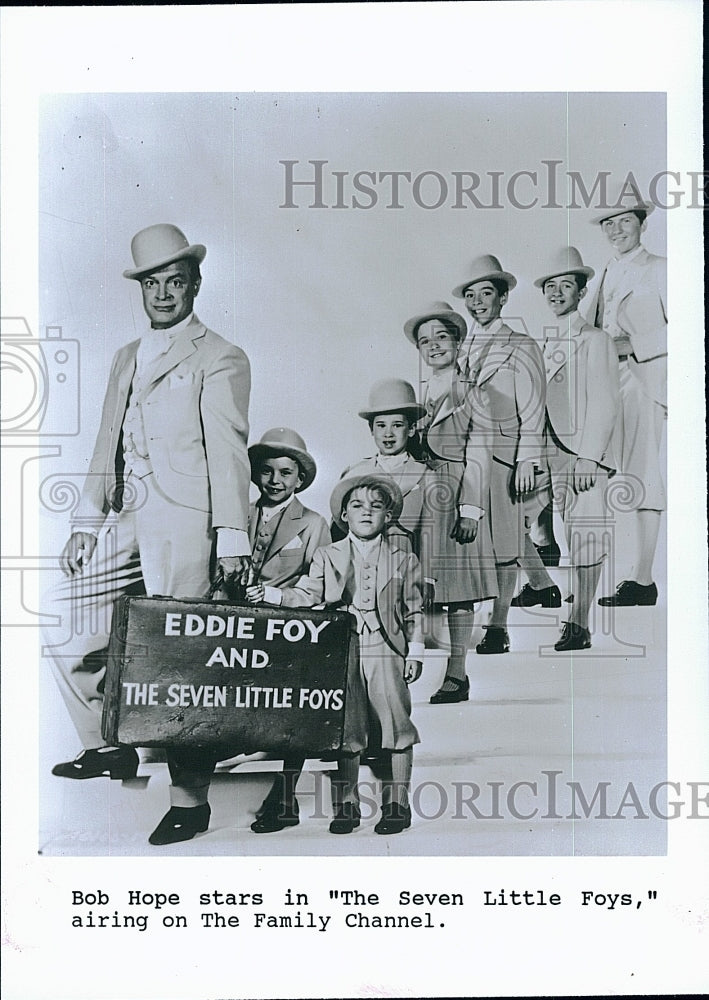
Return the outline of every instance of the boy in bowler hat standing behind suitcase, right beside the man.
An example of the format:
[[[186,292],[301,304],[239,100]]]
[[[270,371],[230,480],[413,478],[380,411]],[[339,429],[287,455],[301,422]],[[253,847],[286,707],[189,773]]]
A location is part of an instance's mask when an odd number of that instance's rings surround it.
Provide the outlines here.
[[[269,601],[308,572],[315,550],[330,541],[325,518],[303,506],[296,493],[315,479],[315,460],[305,441],[288,427],[274,427],[249,448],[251,480],[261,496],[249,508],[252,561],[246,599]],[[295,786],[301,758],[284,761],[283,772],[261,806],[251,829],[271,833],[298,823]]]

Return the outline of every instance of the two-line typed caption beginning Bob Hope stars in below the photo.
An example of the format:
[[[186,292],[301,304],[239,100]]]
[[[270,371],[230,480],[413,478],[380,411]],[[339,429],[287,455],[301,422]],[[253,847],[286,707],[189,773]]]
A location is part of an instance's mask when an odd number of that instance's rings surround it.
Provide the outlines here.
[[[69,921],[77,930],[201,928],[204,930],[307,930],[332,928],[440,930],[464,914],[465,908],[485,907],[488,915],[539,907],[587,907],[616,913],[637,911],[657,900],[657,892],[610,892],[583,889],[575,893],[546,889],[482,889],[475,893],[394,891],[386,896],[359,889],[326,890],[322,898],[286,889],[267,898],[262,892],[212,889],[187,896],[178,892],[127,889],[71,890]],[[492,910],[491,907],[495,907]]]

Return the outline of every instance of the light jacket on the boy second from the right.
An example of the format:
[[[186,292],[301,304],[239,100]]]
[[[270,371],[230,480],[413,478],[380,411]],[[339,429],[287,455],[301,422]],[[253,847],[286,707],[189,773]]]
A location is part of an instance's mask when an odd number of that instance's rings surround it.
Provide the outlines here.
[[[570,322],[561,317],[559,324],[561,336],[544,344],[549,422],[567,451],[615,469],[611,436],[620,399],[615,345],[578,313]]]

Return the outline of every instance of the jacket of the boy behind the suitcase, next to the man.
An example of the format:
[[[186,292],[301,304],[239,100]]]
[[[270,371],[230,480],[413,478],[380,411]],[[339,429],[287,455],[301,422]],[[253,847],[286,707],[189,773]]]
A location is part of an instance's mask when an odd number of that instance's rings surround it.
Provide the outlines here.
[[[258,521],[258,505],[251,504],[249,541],[254,554]],[[303,573],[307,573],[315,550],[321,545],[327,545],[329,541],[330,532],[325,518],[304,507],[297,497],[293,497],[278,520],[258,577],[259,583],[269,587],[291,586]]]

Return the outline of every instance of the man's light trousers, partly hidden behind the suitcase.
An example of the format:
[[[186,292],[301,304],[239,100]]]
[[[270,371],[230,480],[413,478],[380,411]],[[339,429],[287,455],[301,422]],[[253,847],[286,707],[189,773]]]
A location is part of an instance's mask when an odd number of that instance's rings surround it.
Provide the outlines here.
[[[103,651],[116,599],[142,587],[150,596],[202,599],[210,585],[211,515],[170,500],[153,475],[137,485],[138,502],[109,515],[83,573],[62,579],[46,595],[42,607],[58,619],[57,625],[43,628],[46,645],[42,652],[49,658],[85,749],[105,744],[101,734]],[[188,764],[171,767],[173,783],[177,783],[175,774],[183,784],[191,783],[189,777],[184,778],[195,764],[189,755]],[[207,764],[205,758],[203,770]],[[213,763],[210,774],[212,769]]]

